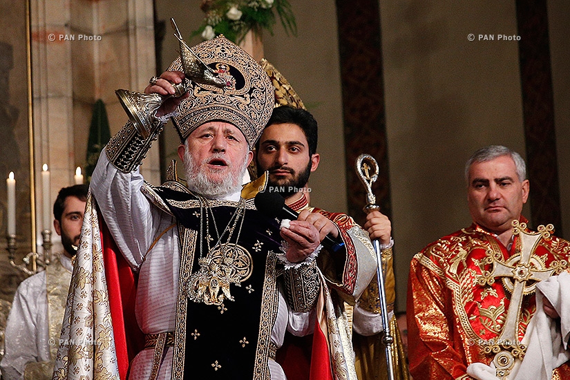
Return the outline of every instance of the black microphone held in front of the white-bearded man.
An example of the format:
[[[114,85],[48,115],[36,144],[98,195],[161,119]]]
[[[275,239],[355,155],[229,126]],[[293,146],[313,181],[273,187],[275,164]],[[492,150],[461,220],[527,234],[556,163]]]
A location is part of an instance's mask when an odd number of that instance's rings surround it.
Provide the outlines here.
[[[266,189],[267,190],[267,189]],[[299,214],[291,207],[285,205],[285,198],[278,193],[270,191],[259,192],[255,198],[256,209],[269,218],[297,220]],[[337,241],[334,236],[328,234],[321,241],[323,247],[334,253],[345,249],[342,241]]]

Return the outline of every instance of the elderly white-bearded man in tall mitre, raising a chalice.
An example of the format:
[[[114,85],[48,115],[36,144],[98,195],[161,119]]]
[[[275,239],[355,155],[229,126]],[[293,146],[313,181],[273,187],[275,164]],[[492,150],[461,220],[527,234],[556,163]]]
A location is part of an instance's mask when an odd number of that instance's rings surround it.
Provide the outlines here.
[[[186,184],[153,187],[138,169],[162,122],[148,138],[128,122],[102,152],[91,182],[117,256],[137,278],[134,309],[144,349],[130,361],[129,379],[285,379],[274,361],[285,331],[309,334],[314,325],[319,231],[306,221],[280,230],[242,196],[251,146],[274,104],[263,69],[224,37],[193,51],[211,68],[227,65],[234,79],[225,88],[191,82],[189,94],[158,111],[164,119],[176,108]],[[182,80],[177,60],[145,92],[173,95],[172,84]],[[84,220],[54,379],[126,372],[94,210]]]

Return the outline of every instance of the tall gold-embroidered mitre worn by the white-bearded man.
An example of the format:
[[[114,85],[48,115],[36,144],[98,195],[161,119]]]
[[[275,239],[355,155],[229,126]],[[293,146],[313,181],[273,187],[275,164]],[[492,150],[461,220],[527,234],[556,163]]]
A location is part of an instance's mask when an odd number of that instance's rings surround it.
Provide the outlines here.
[[[180,140],[186,140],[198,126],[220,120],[238,127],[253,146],[273,111],[275,95],[269,77],[249,54],[221,35],[194,46],[192,51],[225,80],[226,86],[191,82],[190,97],[182,100],[178,115],[173,117]],[[183,71],[180,57],[169,70]]]

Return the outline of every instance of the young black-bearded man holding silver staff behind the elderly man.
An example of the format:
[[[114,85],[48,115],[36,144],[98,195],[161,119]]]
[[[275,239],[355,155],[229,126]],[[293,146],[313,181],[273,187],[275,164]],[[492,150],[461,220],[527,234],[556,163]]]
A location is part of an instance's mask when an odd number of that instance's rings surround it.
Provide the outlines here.
[[[307,194],[312,189],[307,188],[307,181],[310,174],[319,167],[321,159],[319,153],[316,153],[317,128],[314,117],[304,109],[292,106],[276,107],[256,144],[257,171],[259,174],[268,171],[269,182],[266,191],[280,193],[285,198],[285,203],[299,213],[298,220],[310,221],[319,229],[321,239],[327,234],[342,238],[346,245],[352,247],[348,249],[354,249],[357,257],[363,259],[374,254],[368,237],[380,241],[383,260],[386,260],[387,302],[391,318],[395,301],[395,279],[392,270],[393,241],[390,238],[390,220],[379,211],[369,213],[364,225],[368,234],[365,234],[350,216],[343,213],[331,213],[309,205]],[[354,242],[359,240],[364,241],[365,244],[354,245]],[[323,251],[319,254],[317,263],[327,284],[333,289],[341,289],[343,293],[346,293],[339,278],[330,270],[331,267],[342,267],[345,263],[339,263],[334,256],[328,256]],[[355,334],[354,341],[356,342],[357,339],[365,341],[362,345],[361,342],[354,345],[354,350],[357,352],[359,379],[372,379],[374,372],[377,372],[377,367],[374,363],[364,363],[363,357],[366,354],[363,354],[361,347],[372,347],[377,339],[375,335],[382,331],[378,287],[375,276],[372,281],[370,278],[361,280],[365,281],[363,284],[365,287],[368,286],[362,296],[358,297],[353,294],[352,299],[345,298],[345,301],[350,305],[356,302],[353,326],[358,334]],[[341,309],[345,306],[338,305]],[[352,307],[349,308],[352,309]],[[380,354],[380,357],[383,355]]]

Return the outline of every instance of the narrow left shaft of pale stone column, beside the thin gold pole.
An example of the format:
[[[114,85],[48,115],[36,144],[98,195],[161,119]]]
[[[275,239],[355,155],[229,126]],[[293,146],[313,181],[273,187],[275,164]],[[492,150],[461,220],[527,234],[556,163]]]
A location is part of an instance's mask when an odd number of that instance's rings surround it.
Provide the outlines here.
[[[30,15],[36,240],[41,251],[41,230],[50,229],[42,222],[44,202],[51,204],[59,188],[73,183],[75,169],[70,3],[30,0]],[[50,171],[50,199],[46,200],[41,191],[43,164],[48,164]]]

